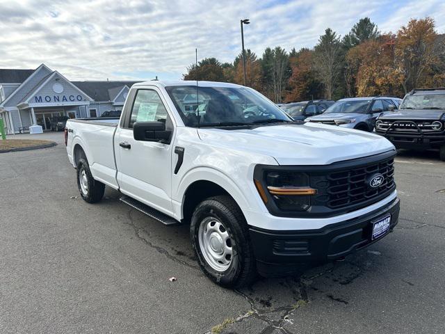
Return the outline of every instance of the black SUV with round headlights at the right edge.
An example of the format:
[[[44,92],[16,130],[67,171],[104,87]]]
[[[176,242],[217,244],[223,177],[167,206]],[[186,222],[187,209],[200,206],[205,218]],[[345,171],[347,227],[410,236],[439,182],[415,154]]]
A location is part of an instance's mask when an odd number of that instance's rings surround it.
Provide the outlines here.
[[[396,148],[439,149],[445,161],[445,88],[412,90],[398,110],[378,118],[375,132]]]

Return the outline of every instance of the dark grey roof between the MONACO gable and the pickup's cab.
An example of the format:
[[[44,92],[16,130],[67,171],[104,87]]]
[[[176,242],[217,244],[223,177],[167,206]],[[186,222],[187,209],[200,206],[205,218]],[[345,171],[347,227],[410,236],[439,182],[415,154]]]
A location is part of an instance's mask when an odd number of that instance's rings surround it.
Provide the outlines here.
[[[115,91],[117,93],[128,86],[129,88],[139,81],[71,81],[80,90],[90,96],[96,102],[113,101]],[[117,94],[116,93],[116,94]]]

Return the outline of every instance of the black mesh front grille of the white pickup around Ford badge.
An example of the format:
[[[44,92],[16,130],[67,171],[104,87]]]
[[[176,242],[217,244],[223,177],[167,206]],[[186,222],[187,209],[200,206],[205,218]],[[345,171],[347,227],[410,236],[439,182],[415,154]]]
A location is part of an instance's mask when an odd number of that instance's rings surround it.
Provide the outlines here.
[[[385,178],[380,186],[372,188],[369,186],[369,180],[375,174],[382,174]],[[371,200],[394,189],[394,159],[363,168],[330,173],[327,175],[327,181],[327,207],[331,209]]]

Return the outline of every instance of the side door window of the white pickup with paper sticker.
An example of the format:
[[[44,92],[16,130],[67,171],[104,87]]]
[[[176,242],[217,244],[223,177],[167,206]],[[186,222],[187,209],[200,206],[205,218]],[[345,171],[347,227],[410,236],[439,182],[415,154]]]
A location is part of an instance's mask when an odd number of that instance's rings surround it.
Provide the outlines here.
[[[131,108],[130,129],[135,122],[166,122],[167,118],[167,110],[155,90],[138,90]]]

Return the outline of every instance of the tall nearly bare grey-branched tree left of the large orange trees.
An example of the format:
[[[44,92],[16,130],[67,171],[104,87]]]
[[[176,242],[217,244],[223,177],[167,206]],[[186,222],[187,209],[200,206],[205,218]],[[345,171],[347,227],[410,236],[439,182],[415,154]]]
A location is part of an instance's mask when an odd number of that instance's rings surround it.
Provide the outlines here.
[[[314,68],[323,84],[324,97],[332,100],[334,90],[339,88],[343,68],[343,50],[340,38],[332,29],[327,28],[318,39],[314,48]]]

